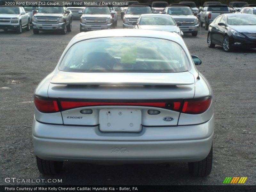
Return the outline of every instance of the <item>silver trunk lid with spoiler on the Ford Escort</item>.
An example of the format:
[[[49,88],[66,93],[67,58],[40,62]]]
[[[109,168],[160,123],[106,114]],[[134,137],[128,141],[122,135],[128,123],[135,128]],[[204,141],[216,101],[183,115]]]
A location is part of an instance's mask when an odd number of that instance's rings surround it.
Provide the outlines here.
[[[60,71],[51,80],[48,96],[58,98],[63,109],[61,114],[64,124],[99,125],[101,131],[140,131],[138,127],[140,125],[176,126],[180,115],[180,112],[177,111],[179,107],[172,110],[166,106],[174,105],[174,102],[182,101],[185,98],[193,98],[194,82],[194,76],[188,71],[154,74]],[[83,102],[83,104],[73,105],[69,108],[63,107],[63,103],[69,105],[70,102]],[[87,105],[88,103],[90,105]],[[161,106],[156,103],[164,104]],[[83,114],[82,110],[91,110],[92,113]],[[160,113],[152,115],[148,114],[148,110],[158,110]],[[110,111],[115,118],[113,117],[114,119],[111,120],[111,116],[108,116],[106,111]],[[135,112],[139,115],[127,116],[127,114]],[[123,115],[119,116],[115,113]],[[116,116],[118,121],[115,121]],[[141,118],[136,120],[137,116],[141,116]],[[126,128],[119,125],[122,121],[127,124]],[[119,124],[111,128],[112,124],[118,122]],[[111,124],[111,126],[108,127],[106,124]],[[137,128],[130,128],[130,124],[136,125]]]

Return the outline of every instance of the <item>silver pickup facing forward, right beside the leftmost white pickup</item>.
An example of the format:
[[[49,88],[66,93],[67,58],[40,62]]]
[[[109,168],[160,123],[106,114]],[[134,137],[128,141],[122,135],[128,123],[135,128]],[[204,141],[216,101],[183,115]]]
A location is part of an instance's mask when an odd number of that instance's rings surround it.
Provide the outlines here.
[[[33,16],[32,25],[34,34],[38,34],[39,31],[58,30],[65,35],[72,29],[72,12],[66,7],[42,6]]]

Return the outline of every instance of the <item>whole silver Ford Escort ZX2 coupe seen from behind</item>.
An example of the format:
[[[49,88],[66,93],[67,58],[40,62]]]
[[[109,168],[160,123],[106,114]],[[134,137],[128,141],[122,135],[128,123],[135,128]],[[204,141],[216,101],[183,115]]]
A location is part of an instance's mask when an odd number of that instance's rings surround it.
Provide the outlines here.
[[[122,44],[120,44],[122,42]],[[80,33],[35,90],[33,142],[41,173],[63,161],[188,162],[212,169],[212,89],[176,33]]]

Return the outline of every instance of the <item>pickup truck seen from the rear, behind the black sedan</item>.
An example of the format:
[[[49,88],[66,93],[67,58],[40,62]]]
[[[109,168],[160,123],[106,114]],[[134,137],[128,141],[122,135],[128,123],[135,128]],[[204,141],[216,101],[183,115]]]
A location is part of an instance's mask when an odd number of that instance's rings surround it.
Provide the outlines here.
[[[228,5],[226,4],[209,4],[207,7],[198,14],[199,23],[202,27],[205,24],[205,30],[208,30],[208,26],[212,21],[221,14],[230,13]]]

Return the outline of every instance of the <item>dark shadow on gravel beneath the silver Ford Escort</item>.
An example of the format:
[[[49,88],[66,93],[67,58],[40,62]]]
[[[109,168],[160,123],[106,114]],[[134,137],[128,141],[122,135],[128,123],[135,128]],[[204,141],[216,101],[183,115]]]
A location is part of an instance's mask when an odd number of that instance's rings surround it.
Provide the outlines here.
[[[62,172],[54,178],[62,179],[61,185],[187,185],[188,180],[191,184],[200,179],[189,175],[187,163],[94,165],[72,162],[64,163]]]

